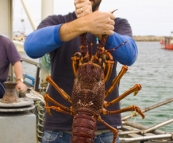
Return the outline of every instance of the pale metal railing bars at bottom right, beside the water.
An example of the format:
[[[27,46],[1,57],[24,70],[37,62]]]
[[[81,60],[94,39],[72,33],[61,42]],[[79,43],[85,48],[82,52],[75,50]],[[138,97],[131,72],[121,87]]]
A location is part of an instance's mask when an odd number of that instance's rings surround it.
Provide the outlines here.
[[[160,106],[166,105],[171,102],[173,102],[173,98],[166,99],[163,102],[144,108],[142,112],[144,113],[144,112],[153,110],[155,108],[158,108]],[[128,119],[134,116],[138,116],[138,114],[122,117],[122,123],[124,128],[119,132],[121,142],[135,142],[136,143],[139,141],[142,142],[142,141],[150,141],[150,140],[157,140],[157,141],[165,140],[166,143],[168,143],[169,141],[173,142],[173,133],[167,133],[167,132],[158,130],[158,128],[160,127],[173,123],[173,119],[169,119],[167,121],[161,122],[152,127],[146,127],[141,124],[132,123],[128,121]],[[128,127],[130,127],[131,130],[129,130]],[[133,135],[133,137],[131,137],[131,135]]]

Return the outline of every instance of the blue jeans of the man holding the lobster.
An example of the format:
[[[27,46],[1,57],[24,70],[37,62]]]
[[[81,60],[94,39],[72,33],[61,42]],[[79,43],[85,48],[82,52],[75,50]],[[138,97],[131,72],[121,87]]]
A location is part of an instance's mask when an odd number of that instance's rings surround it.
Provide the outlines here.
[[[44,136],[42,143],[71,143],[71,134],[66,132],[53,132],[53,131],[44,131]],[[94,143],[112,143],[113,133],[106,132],[101,135],[97,135],[94,138]],[[119,136],[116,138],[116,143],[120,143]]]

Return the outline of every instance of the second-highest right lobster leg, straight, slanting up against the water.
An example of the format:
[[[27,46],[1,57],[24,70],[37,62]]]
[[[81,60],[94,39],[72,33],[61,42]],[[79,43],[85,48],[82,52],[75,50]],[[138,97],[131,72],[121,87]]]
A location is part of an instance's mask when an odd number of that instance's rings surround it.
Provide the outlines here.
[[[129,90],[127,90],[126,92],[124,92],[122,95],[118,96],[117,98],[115,98],[114,100],[107,102],[104,102],[104,107],[108,107],[112,104],[115,104],[117,102],[119,102],[120,100],[122,100],[123,98],[125,98],[127,95],[131,94],[132,92],[134,92],[134,95],[136,95],[138,93],[139,90],[141,90],[142,87],[140,84],[136,84],[134,87],[130,88]]]

